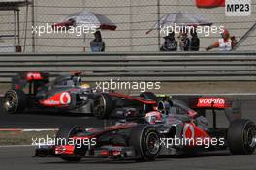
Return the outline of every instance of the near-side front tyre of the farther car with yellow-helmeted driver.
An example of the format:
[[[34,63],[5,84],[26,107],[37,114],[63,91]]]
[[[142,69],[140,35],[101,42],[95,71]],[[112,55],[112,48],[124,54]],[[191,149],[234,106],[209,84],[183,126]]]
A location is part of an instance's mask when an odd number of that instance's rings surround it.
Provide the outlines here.
[[[98,119],[108,119],[113,110],[113,101],[109,94],[101,94],[94,99],[93,115]]]

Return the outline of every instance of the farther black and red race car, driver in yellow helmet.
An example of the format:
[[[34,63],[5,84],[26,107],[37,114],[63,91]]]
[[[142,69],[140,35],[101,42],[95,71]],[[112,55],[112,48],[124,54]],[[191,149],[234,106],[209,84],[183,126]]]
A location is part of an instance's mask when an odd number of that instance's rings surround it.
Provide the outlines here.
[[[156,105],[156,101],[141,97],[131,97],[120,93],[95,91],[82,82],[80,72],[59,75],[49,81],[47,72],[21,72],[13,77],[12,88],[2,99],[2,107],[7,113],[20,113],[25,109],[50,110],[94,114],[98,118],[109,118],[115,109],[133,108],[144,113]],[[117,110],[114,113],[118,113]]]

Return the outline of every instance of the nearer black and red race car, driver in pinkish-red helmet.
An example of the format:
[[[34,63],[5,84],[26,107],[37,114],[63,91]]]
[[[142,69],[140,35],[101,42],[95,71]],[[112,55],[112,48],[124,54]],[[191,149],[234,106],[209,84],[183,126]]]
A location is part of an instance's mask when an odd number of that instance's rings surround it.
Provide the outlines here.
[[[180,100],[159,101],[156,110],[141,117],[129,112],[132,110],[126,110],[122,118],[116,114],[120,119],[107,128],[59,128],[54,143],[38,146],[35,156],[66,161],[85,157],[150,161],[160,155],[225,149],[247,155],[256,147],[256,126],[252,121],[233,117],[228,118],[228,128],[211,127],[206,117]]]

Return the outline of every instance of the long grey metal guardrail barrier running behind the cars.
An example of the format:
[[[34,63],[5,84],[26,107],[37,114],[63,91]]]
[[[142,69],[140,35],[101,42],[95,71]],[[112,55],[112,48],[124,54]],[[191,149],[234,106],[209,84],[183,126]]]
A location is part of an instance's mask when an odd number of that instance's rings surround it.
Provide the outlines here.
[[[19,71],[83,71],[87,81],[255,81],[256,52],[0,54],[0,82]]]

